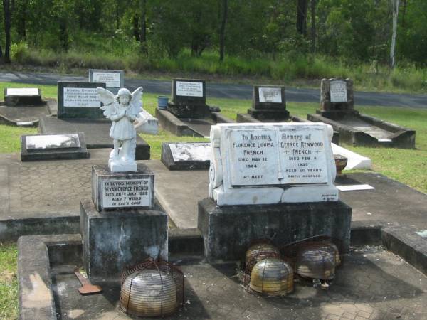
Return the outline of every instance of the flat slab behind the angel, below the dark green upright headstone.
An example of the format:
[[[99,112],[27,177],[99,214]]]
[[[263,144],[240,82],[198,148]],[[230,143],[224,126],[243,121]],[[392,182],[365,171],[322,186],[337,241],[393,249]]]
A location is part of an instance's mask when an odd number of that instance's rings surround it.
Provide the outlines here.
[[[84,132],[88,149],[112,148],[111,122],[105,119],[58,119],[41,117],[38,130],[42,134]],[[149,144],[137,135],[136,160],[149,159]]]

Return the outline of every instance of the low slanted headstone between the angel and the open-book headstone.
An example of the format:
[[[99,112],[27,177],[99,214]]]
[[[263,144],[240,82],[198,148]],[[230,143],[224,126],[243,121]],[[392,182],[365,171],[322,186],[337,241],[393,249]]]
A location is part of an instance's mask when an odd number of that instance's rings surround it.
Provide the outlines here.
[[[209,169],[210,142],[163,142],[162,163],[169,170]]]

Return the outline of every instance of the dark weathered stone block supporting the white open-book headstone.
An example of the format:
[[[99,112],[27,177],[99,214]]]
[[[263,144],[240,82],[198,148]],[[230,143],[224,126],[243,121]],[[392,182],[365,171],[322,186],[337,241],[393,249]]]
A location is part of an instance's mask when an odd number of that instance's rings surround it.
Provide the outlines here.
[[[216,206],[199,201],[198,226],[209,261],[239,260],[253,240],[272,239],[278,247],[328,235],[349,250],[352,208],[342,201],[257,206]],[[310,226],[310,228],[307,228]]]

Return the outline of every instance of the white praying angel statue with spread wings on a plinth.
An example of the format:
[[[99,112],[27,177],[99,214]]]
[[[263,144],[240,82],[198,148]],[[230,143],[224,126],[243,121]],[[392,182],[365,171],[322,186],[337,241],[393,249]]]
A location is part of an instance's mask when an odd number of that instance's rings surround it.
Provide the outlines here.
[[[121,88],[117,95],[102,87],[96,88],[102,102],[101,109],[107,119],[112,120],[110,137],[114,149],[110,153],[108,166],[111,172],[137,171],[135,162],[135,148],[137,147],[137,133],[133,126],[135,118],[142,111],[142,87],[130,93]]]

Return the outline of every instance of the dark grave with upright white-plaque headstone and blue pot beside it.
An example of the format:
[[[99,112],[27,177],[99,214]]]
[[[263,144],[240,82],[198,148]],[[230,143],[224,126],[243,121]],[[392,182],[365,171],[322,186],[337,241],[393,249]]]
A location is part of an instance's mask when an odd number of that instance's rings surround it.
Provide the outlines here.
[[[157,107],[156,117],[160,125],[177,136],[208,137],[211,125],[230,123],[218,107],[206,105],[204,80],[172,80],[172,102],[167,108]]]

